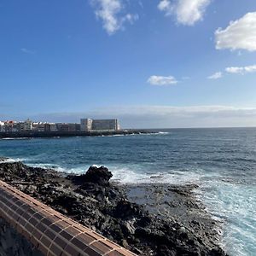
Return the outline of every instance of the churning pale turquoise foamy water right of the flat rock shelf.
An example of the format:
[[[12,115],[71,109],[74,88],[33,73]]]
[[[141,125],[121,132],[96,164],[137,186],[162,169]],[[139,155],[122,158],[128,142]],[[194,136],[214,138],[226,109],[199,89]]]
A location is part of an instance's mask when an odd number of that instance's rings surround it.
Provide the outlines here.
[[[256,200],[254,186],[208,179],[201,183],[207,210],[224,222],[222,245],[230,255],[256,253]],[[252,252],[254,252],[252,254]]]

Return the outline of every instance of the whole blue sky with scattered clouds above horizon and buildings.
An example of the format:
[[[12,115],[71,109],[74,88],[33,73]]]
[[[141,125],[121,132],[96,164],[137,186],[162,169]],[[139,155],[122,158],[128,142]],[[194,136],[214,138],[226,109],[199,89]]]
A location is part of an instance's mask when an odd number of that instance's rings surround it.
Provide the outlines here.
[[[0,120],[256,126],[255,0],[0,0]]]

